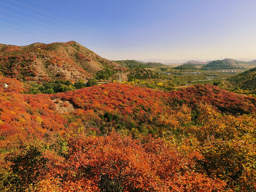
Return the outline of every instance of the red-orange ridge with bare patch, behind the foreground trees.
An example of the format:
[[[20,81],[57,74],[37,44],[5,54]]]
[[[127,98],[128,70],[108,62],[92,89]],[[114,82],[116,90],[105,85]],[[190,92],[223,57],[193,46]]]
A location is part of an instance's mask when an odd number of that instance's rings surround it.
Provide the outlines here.
[[[31,134],[45,137],[45,134],[67,129],[75,131],[81,127],[97,134],[120,127],[154,132],[159,115],[168,114],[170,109],[177,109],[182,104],[196,109],[199,103],[206,102],[225,113],[256,112],[255,98],[212,85],[162,92],[111,83],[65,93],[34,95],[21,94],[24,90],[22,83],[15,79],[1,77],[1,81],[0,148],[6,144],[7,138],[10,145],[14,145],[18,135],[20,139]],[[6,82],[9,84],[7,89],[2,85]]]

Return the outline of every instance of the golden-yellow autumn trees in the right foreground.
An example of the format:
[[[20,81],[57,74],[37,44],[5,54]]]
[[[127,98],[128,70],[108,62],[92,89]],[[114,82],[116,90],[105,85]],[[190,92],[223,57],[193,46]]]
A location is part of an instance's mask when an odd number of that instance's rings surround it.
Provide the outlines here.
[[[187,147],[204,157],[197,159],[198,171],[225,181],[227,190],[255,191],[255,115],[223,115],[209,105],[199,111],[197,126],[182,127]]]

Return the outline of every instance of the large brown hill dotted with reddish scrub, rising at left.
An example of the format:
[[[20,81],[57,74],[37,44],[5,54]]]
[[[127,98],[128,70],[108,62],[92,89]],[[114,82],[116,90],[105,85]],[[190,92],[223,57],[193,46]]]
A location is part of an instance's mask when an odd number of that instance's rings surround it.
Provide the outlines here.
[[[100,70],[118,68],[116,62],[74,41],[27,46],[0,44],[0,74],[19,81],[86,82]]]

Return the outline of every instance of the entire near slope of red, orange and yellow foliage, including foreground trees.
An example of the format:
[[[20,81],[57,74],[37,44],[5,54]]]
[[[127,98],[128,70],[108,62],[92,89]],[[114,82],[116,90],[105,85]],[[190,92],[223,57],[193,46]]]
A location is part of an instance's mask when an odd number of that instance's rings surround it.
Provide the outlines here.
[[[22,94],[0,81],[0,191],[256,189],[255,98],[117,83]]]

